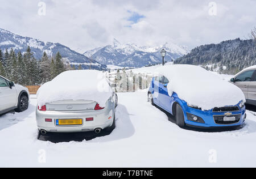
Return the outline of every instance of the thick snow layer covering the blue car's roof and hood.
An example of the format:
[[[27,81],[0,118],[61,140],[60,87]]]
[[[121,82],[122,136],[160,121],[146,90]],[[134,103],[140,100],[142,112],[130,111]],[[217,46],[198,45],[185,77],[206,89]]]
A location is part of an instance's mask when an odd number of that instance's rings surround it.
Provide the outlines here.
[[[167,86],[170,96],[176,92],[180,99],[203,110],[237,105],[241,100],[245,101],[240,88],[221,80],[202,67],[169,65],[158,67],[155,71],[170,81]]]

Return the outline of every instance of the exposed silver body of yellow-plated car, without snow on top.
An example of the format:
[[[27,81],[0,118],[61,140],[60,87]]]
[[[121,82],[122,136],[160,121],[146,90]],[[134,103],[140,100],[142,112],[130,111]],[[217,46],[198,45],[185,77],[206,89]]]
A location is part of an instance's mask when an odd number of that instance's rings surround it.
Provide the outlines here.
[[[59,100],[36,109],[36,122],[42,135],[52,133],[72,133],[115,128],[115,107],[117,94],[110,95],[105,108],[92,100]]]

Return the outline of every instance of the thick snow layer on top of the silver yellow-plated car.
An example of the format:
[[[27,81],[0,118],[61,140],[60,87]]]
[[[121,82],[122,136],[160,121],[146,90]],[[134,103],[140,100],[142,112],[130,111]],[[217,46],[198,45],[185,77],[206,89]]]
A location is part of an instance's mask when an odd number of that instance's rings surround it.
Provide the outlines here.
[[[65,71],[43,84],[37,93],[39,107],[58,100],[93,100],[104,107],[111,96],[104,73],[97,70]]]

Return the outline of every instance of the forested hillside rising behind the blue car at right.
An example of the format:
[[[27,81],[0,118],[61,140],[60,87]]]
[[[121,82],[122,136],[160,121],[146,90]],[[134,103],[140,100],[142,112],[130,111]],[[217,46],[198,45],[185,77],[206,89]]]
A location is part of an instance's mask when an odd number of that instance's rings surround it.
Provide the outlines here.
[[[220,73],[236,74],[256,64],[256,40],[228,40],[201,45],[177,59],[175,64],[217,65]],[[224,70],[224,67],[226,69]]]

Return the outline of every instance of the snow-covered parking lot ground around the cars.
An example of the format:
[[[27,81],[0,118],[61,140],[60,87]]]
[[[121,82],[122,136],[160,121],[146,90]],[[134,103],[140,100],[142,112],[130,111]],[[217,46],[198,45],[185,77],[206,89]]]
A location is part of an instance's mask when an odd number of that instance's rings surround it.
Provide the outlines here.
[[[256,167],[255,112],[241,129],[206,132],[168,121],[147,92],[118,97],[110,135],[55,144],[38,140],[31,96],[26,112],[0,116],[0,167]]]

